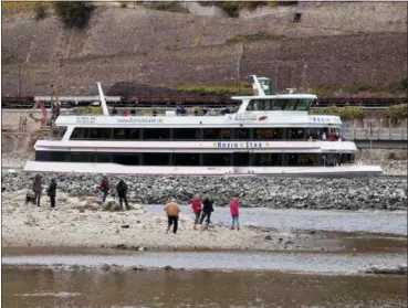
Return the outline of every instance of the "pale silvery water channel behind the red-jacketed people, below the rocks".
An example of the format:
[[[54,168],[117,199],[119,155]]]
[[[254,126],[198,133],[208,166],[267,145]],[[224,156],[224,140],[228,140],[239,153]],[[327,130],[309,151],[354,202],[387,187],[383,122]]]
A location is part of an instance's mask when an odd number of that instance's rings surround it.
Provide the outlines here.
[[[160,205],[147,205],[146,210],[150,213],[163,214]],[[211,221],[231,224],[229,211],[229,208],[216,208]],[[181,206],[181,213],[192,216],[191,209],[187,205]],[[323,230],[407,235],[407,211],[240,209],[240,223],[282,231]]]

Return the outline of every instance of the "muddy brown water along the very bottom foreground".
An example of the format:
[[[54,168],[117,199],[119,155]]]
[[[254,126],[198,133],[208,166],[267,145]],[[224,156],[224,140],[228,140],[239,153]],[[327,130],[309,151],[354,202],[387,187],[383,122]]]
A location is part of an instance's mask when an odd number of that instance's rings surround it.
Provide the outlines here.
[[[212,270],[2,269],[2,307],[402,308],[401,276]]]

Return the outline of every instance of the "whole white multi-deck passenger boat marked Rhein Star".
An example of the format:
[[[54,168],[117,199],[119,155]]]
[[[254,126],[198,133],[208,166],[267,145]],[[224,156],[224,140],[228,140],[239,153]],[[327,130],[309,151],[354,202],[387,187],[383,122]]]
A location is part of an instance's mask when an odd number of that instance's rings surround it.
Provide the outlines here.
[[[59,139],[39,139],[24,170],[106,174],[369,177],[379,166],[354,163],[338,116],[308,115],[312,94],[273,94],[253,77],[254,96],[233,114],[112,115],[97,83],[103,115],[64,116]]]

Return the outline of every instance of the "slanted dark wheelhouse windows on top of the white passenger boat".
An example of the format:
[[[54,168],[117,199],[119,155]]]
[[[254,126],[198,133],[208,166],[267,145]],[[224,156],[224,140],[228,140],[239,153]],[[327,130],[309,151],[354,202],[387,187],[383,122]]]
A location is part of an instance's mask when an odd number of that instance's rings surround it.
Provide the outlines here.
[[[313,99],[251,99],[247,110],[307,110]]]

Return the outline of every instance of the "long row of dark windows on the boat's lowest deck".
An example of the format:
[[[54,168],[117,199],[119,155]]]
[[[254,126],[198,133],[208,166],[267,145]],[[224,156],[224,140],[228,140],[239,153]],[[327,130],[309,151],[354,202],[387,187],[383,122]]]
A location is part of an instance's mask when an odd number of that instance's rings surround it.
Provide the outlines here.
[[[114,162],[125,166],[336,166],[351,153],[169,153],[36,151],[36,161]]]

